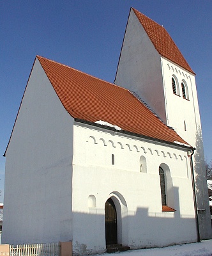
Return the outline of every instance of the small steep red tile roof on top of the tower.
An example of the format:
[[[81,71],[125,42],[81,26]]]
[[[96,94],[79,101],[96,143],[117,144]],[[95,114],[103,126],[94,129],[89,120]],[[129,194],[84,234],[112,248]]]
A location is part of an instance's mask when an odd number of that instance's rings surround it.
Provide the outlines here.
[[[195,74],[165,28],[134,8],[132,10],[159,54]]]

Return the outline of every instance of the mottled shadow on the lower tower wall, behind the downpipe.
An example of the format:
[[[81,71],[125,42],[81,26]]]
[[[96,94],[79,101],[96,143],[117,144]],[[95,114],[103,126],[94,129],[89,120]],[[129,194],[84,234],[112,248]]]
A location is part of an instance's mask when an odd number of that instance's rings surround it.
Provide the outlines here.
[[[211,216],[209,211],[208,185],[201,129],[197,130],[195,147],[196,150],[193,155],[193,168],[195,173],[199,230],[201,239],[210,239]]]

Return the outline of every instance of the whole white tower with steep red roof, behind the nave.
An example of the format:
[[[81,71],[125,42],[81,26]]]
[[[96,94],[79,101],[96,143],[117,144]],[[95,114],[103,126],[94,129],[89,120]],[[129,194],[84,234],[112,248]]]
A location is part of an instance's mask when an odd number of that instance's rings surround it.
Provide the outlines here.
[[[137,93],[195,149],[193,166],[201,239],[211,238],[201,118],[195,73],[169,33],[134,8],[121,47],[115,84]]]

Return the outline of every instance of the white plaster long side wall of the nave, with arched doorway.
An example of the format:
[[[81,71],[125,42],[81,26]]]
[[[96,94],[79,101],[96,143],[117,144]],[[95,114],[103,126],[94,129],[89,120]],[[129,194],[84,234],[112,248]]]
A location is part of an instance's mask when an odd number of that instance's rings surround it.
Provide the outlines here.
[[[114,165],[111,154],[115,156]],[[140,172],[140,156],[146,157],[146,173]],[[167,201],[176,212],[162,212],[158,174],[162,163],[170,168],[173,186],[167,191]],[[95,196],[96,207],[88,207],[89,195]],[[105,251],[104,208],[112,195],[126,202],[122,205],[125,213],[122,230],[118,230],[118,243],[135,249],[196,241],[186,150],[75,123],[72,204],[75,255]]]

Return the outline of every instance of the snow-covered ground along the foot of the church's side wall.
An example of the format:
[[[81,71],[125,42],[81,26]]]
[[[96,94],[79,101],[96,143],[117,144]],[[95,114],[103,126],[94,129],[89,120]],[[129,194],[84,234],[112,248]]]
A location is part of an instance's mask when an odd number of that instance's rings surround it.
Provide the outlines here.
[[[103,253],[98,256],[108,256]],[[181,244],[165,248],[151,248],[132,250],[128,252],[111,253],[111,256],[212,256],[212,240],[201,241],[201,243]]]

